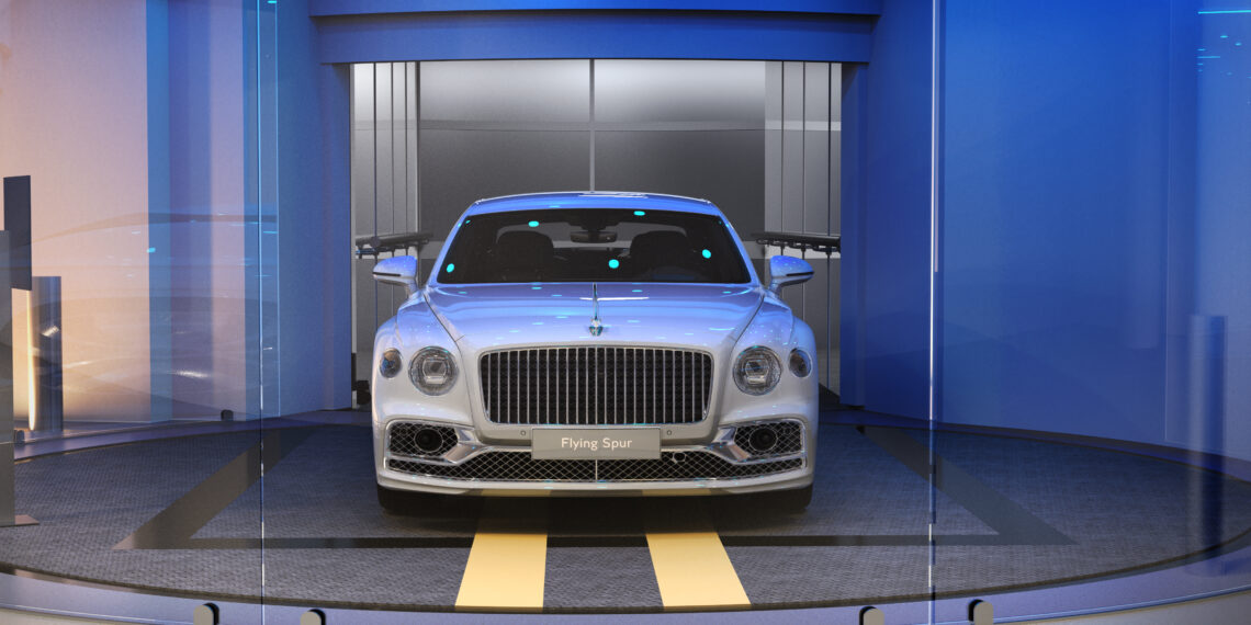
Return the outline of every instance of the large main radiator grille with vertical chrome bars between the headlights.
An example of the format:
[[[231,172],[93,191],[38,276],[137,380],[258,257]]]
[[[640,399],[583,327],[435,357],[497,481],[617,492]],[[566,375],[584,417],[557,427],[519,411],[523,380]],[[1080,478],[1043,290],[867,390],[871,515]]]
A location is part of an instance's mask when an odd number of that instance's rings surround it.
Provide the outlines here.
[[[692,424],[708,414],[712,356],[657,348],[484,354],[487,419],[517,425]]]

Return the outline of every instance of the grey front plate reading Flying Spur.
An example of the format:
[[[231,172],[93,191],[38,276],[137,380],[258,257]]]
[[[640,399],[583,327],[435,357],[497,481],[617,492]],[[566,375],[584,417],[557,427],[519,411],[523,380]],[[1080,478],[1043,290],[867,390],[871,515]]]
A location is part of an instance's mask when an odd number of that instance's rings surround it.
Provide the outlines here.
[[[653,460],[661,458],[659,428],[570,429],[535,428],[530,458],[535,460]]]

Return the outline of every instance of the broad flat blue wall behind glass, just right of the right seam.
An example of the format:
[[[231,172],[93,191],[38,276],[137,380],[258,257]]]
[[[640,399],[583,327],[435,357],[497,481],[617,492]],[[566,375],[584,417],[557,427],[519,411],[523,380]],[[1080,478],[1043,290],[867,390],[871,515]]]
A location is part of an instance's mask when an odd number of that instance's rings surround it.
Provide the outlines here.
[[[1163,431],[1168,24],[947,4],[943,419]]]

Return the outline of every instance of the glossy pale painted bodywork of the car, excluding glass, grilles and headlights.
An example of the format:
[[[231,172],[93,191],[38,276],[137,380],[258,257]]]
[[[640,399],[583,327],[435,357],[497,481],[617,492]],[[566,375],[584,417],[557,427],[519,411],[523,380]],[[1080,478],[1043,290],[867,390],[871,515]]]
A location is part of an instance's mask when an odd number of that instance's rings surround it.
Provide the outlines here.
[[[721,216],[712,204],[687,198],[537,194],[474,204],[457,221],[458,226],[448,240],[455,236],[460,224],[482,212],[567,206],[686,210]],[[737,235],[734,240],[739,241]],[[444,250],[448,248],[444,246]],[[741,241],[738,248],[747,259]],[[379,485],[449,494],[553,491],[604,495],[708,490],[749,492],[811,484],[819,375],[813,371],[806,378],[797,378],[783,366],[778,386],[759,396],[742,392],[731,378],[734,359],[751,346],[768,346],[783,362],[796,348],[809,355],[816,354],[812,330],[761,284],[754,271],[748,284],[598,282],[599,319],[604,330],[593,336],[590,321],[595,301],[590,282],[443,285],[438,281],[442,265],[440,255],[427,285],[400,306],[395,318],[378,329],[374,354],[394,348],[407,362],[422,348],[440,346],[457,356],[460,375],[450,391],[430,396],[414,388],[407,375],[384,379],[373,366],[374,459]],[[747,266],[751,268],[751,264]],[[529,449],[530,428],[487,420],[482,408],[478,358],[497,349],[578,345],[677,346],[708,351],[714,368],[709,416],[696,424],[662,426],[663,449],[703,449],[726,425],[789,418],[804,425],[806,466],[761,478],[658,482],[469,481],[419,478],[387,469],[385,431],[392,420],[419,419],[464,426],[483,446]]]

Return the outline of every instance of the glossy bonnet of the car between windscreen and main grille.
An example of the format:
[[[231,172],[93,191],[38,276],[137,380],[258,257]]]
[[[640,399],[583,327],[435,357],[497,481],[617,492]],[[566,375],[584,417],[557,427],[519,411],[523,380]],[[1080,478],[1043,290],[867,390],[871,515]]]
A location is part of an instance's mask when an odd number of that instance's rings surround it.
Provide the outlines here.
[[[728,348],[756,315],[764,291],[753,285],[495,284],[425,290],[439,321],[462,349],[514,345],[689,345]],[[598,300],[603,332],[590,334]]]

